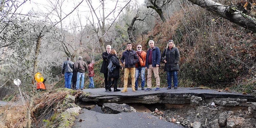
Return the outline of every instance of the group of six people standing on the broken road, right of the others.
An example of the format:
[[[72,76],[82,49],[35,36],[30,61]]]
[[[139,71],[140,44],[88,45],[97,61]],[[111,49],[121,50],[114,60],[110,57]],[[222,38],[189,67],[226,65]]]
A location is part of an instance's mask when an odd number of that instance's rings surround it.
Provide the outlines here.
[[[127,92],[128,76],[131,75],[132,91],[138,90],[138,78],[141,76],[141,90],[152,90],[152,74],[156,78],[156,91],[160,90],[159,66],[162,61],[165,63],[164,71],[167,73],[167,89],[171,89],[171,82],[173,78],[174,89],[178,87],[178,71],[180,53],[175,47],[173,40],[169,40],[165,50],[160,53],[160,49],[155,46],[153,40],[148,41],[149,49],[144,52],[140,44],[137,45],[137,51],[132,49],[132,43],[126,44],[126,51],[122,53],[121,63],[116,55],[115,49],[111,45],[106,46],[106,52],[102,53],[103,62],[100,72],[104,74],[105,91],[111,91],[113,85],[114,91],[121,91],[117,89],[117,81],[120,77],[120,69],[124,68],[124,86],[121,92]],[[111,50],[112,49],[112,50]],[[109,63],[115,66],[113,72],[108,70]],[[147,88],[145,89],[145,70],[147,70]]]

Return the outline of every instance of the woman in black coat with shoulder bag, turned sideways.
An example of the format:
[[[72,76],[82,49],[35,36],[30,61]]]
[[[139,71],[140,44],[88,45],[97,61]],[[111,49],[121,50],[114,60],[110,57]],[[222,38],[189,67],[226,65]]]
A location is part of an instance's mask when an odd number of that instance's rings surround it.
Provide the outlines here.
[[[112,49],[110,51],[110,54],[108,55],[108,60],[109,60],[109,63],[111,61],[112,64],[115,66],[113,72],[108,71],[108,76],[109,78],[111,78],[111,82],[109,82],[109,85],[108,85],[108,90],[111,91],[111,86],[112,84],[114,84],[114,92],[121,91],[120,89],[117,89],[117,81],[120,76],[119,70],[120,68],[122,68],[122,66],[119,64],[119,59],[116,56],[116,50]]]

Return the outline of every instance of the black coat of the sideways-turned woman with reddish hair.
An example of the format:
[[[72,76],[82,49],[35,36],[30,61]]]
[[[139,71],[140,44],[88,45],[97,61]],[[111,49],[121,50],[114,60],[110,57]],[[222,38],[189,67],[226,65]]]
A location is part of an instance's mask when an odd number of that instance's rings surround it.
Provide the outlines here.
[[[109,60],[109,62],[111,61],[114,66],[116,66],[116,68],[114,68],[113,72],[109,72],[109,74],[108,74],[109,78],[119,79],[120,68],[122,68],[122,66],[119,64],[119,59],[117,58],[116,54],[109,54],[108,60]]]

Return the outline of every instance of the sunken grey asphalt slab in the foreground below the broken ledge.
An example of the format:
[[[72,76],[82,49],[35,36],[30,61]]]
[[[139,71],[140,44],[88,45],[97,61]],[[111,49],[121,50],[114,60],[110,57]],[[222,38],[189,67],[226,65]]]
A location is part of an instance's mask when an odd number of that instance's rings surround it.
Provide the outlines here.
[[[142,112],[121,112],[119,114],[102,114],[87,109],[81,110],[73,128],[184,128],[160,120],[157,116]],[[82,119],[82,122],[79,122]]]

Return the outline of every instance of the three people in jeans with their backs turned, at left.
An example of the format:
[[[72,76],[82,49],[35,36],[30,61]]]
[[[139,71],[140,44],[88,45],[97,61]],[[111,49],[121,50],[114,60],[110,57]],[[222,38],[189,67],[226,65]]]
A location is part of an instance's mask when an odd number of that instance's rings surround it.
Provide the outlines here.
[[[88,66],[87,66],[88,64]],[[94,88],[93,83],[93,71],[94,62],[83,61],[82,56],[78,56],[78,60],[76,63],[72,62],[69,57],[67,60],[62,64],[62,75],[64,75],[65,79],[65,88],[75,89],[75,90],[83,90],[84,89],[84,79],[85,79],[85,72],[88,71],[89,76],[89,88]],[[81,79],[81,87],[80,87],[80,79]],[[72,81],[72,87],[71,87]]]

